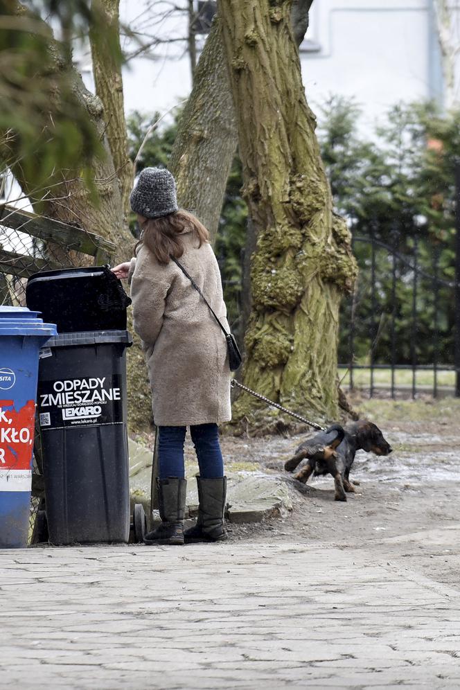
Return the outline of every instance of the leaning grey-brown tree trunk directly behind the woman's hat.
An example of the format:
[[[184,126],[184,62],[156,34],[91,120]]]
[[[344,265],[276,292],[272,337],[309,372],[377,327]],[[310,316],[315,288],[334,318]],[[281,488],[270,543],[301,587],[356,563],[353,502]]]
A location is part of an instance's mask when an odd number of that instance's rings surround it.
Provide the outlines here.
[[[235,111],[216,17],[195,69],[170,160],[179,205],[200,218],[211,233],[211,242],[218,231],[236,141]]]

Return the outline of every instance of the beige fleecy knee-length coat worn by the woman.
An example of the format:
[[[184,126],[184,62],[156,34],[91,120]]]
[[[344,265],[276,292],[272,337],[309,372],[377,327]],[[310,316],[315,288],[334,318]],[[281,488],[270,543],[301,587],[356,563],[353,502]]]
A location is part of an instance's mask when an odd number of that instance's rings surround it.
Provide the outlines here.
[[[218,262],[209,244],[182,233],[179,258],[229,331]],[[134,269],[134,270],[133,270]],[[229,421],[227,342],[200,294],[177,265],[157,262],[143,245],[132,260],[134,330],[148,364],[154,423],[188,426]]]

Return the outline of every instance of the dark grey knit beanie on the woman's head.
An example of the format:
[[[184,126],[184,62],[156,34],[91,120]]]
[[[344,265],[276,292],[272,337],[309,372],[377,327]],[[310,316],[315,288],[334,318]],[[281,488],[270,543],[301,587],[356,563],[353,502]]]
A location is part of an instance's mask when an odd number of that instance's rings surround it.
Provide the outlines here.
[[[176,183],[166,168],[144,168],[130,196],[131,208],[145,218],[161,218],[179,210]]]

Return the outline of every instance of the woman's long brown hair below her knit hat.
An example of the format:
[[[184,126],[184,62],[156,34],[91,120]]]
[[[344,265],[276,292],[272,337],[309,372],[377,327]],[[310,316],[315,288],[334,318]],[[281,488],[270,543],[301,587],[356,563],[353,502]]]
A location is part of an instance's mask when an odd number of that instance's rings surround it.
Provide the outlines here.
[[[141,239],[136,244],[134,254],[145,245],[158,263],[169,263],[170,256],[179,258],[184,254],[184,245],[180,233],[192,231],[201,247],[203,242],[209,242],[209,232],[204,225],[195,218],[193,213],[179,209],[175,213],[163,215],[161,218],[146,218],[141,224]]]

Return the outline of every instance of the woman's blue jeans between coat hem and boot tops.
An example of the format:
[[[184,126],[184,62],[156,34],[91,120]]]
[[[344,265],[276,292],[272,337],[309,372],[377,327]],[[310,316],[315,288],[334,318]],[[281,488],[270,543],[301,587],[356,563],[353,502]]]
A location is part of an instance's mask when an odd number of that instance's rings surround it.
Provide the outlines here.
[[[159,478],[184,479],[184,441],[187,427],[158,427]],[[224,476],[224,461],[220,450],[218,425],[197,424],[190,427],[197,454],[200,477],[217,479]]]

